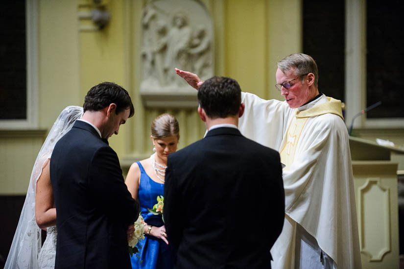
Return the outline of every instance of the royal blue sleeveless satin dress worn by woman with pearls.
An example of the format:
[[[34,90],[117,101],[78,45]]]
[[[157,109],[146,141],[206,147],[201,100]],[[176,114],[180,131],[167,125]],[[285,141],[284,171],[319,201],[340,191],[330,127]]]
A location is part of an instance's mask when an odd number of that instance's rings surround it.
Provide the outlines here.
[[[144,221],[147,224],[155,227],[161,227],[164,225],[161,215],[153,215],[147,209],[153,208],[153,205],[157,203],[157,196],[164,195],[164,184],[153,181],[144,171],[140,162],[136,162],[139,165],[140,185],[139,185],[139,201],[141,206],[141,214]],[[161,239],[144,234],[144,239],[138,243],[140,260],[134,254],[131,257],[132,268],[143,269],[172,269],[174,265],[174,252],[170,245],[167,245]]]

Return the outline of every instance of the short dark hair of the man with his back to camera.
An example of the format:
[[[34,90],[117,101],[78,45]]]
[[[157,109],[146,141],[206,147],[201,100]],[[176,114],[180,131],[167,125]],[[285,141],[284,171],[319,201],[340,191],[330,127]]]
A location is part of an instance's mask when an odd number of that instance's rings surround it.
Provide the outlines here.
[[[240,85],[230,77],[211,77],[199,88],[198,101],[211,119],[237,115],[241,104]]]

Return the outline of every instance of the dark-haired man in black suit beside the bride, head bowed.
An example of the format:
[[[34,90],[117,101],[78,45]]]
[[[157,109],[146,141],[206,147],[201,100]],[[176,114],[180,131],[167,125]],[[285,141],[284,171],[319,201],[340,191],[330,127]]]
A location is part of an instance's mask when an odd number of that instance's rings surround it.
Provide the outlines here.
[[[84,114],[56,144],[50,180],[56,205],[55,268],[131,268],[127,236],[139,203],[132,199],[107,139],[133,116],[128,92],[100,83],[87,93]]]

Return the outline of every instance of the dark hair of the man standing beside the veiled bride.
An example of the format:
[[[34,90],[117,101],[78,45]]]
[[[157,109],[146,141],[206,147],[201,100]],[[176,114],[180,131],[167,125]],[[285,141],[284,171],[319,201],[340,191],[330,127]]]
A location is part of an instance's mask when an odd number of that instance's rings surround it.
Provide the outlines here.
[[[128,92],[113,82],[102,82],[91,88],[84,98],[83,110],[84,112],[99,111],[112,103],[117,105],[116,114],[128,108],[130,109],[129,118],[135,114]]]

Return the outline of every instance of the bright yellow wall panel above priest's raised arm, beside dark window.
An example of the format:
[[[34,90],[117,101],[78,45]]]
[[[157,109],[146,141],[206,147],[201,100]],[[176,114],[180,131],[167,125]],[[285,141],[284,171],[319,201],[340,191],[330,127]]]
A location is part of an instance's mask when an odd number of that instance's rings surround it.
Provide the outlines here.
[[[266,98],[266,2],[225,1],[226,76],[243,91]]]

